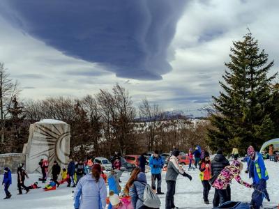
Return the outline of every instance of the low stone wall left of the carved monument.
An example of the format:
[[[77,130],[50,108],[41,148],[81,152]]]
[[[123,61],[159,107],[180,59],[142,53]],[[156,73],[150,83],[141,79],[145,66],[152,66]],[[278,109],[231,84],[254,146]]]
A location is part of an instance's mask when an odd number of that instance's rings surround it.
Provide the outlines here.
[[[25,154],[9,153],[0,155],[0,173],[3,173],[5,167],[9,167],[13,173],[17,172],[17,167],[20,163],[25,164]]]

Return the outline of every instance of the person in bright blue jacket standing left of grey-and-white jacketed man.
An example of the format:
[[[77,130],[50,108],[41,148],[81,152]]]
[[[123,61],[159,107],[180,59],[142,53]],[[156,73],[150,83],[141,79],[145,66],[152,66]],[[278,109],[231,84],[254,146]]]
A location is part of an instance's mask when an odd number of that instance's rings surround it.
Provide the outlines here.
[[[156,150],[152,157],[149,159],[149,167],[151,167],[151,187],[153,190],[156,189],[156,180],[157,183],[157,194],[164,194],[161,191],[161,183],[162,183],[162,176],[161,171],[164,166],[163,157],[159,155],[159,151]]]

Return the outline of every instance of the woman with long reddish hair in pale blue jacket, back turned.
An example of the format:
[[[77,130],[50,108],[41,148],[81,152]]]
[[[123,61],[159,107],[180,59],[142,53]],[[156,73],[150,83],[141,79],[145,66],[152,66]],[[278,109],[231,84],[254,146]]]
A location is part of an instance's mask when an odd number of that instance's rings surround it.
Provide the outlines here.
[[[101,167],[94,164],[91,173],[77,183],[74,194],[75,209],[105,209],[107,188],[105,180],[100,178]]]

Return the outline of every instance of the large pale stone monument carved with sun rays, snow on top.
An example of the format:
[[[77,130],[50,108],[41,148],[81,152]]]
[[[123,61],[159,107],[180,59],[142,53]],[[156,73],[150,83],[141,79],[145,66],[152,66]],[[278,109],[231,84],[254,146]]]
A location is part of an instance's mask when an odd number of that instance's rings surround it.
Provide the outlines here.
[[[41,172],[38,165],[40,159],[48,160],[49,173],[54,160],[61,169],[66,167],[70,155],[70,125],[50,119],[31,124],[25,154],[26,169],[29,173]]]

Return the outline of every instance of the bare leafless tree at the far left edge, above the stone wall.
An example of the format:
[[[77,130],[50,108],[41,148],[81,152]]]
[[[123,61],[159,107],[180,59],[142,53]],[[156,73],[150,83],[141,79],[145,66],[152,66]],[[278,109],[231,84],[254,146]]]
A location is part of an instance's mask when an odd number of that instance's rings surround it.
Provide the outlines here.
[[[0,63],[0,114],[1,114],[1,123],[0,123],[0,134],[1,134],[1,144],[5,141],[5,123],[8,118],[8,110],[12,104],[15,96],[20,93],[20,90],[17,88],[18,83],[13,83],[13,80],[9,78],[10,75],[7,72],[7,69],[4,68],[4,63]]]

